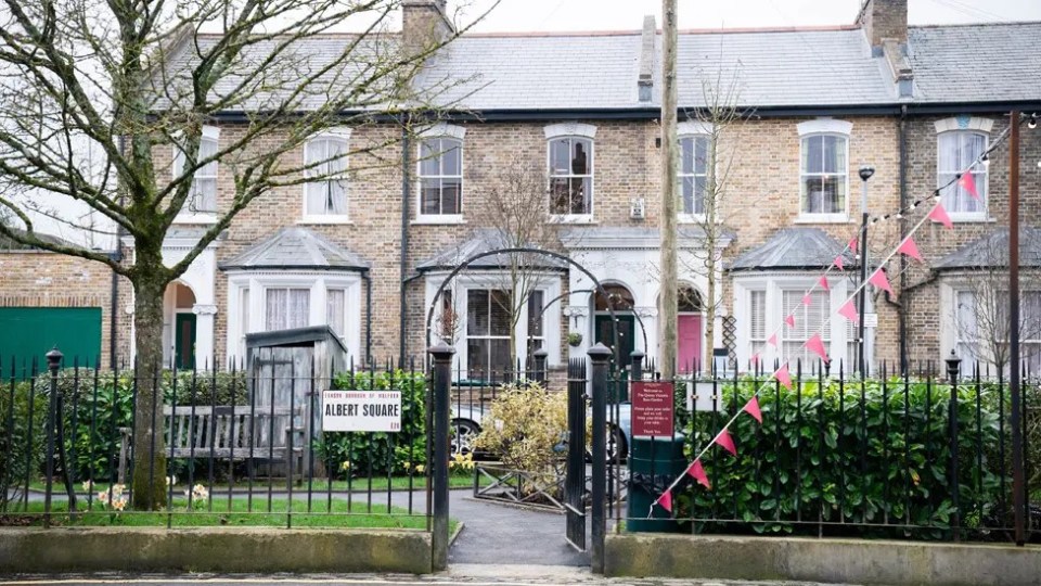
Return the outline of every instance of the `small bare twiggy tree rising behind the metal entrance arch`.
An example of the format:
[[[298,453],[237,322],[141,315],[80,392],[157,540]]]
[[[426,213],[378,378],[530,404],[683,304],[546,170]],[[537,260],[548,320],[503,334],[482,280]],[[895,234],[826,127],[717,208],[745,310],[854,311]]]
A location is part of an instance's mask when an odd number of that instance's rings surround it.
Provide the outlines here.
[[[544,165],[515,156],[489,178],[489,186],[474,209],[474,219],[481,227],[478,233],[486,249],[561,250],[558,225],[549,214],[549,178]],[[505,295],[496,296],[493,302],[506,313],[510,360],[511,365],[516,365],[517,326],[525,315],[524,306],[532,292],[560,277],[548,272],[548,268],[556,263],[540,254],[515,252],[494,258],[503,270],[498,288]]]

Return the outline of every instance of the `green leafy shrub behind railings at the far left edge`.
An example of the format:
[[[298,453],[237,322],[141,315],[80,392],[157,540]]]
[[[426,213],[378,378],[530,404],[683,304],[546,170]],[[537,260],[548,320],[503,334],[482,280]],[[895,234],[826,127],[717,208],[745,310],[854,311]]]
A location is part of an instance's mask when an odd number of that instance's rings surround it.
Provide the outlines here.
[[[7,386],[7,385],[5,385]],[[0,387],[0,511],[10,510],[43,464],[48,398],[29,382]]]

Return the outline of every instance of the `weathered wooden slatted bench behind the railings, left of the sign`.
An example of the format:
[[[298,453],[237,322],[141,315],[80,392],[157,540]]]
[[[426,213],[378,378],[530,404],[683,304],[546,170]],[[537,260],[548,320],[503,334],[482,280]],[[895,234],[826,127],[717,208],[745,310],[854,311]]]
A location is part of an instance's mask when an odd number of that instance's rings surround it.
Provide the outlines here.
[[[293,415],[270,406],[165,405],[166,453],[174,458],[285,461],[291,434],[293,454],[305,448],[305,430],[292,429]]]

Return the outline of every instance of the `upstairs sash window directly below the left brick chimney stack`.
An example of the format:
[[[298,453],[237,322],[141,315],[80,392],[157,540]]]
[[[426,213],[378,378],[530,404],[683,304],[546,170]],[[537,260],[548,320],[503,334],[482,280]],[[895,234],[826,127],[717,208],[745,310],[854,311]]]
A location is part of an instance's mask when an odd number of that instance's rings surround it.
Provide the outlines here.
[[[420,142],[420,214],[463,213],[463,141],[449,137]]]

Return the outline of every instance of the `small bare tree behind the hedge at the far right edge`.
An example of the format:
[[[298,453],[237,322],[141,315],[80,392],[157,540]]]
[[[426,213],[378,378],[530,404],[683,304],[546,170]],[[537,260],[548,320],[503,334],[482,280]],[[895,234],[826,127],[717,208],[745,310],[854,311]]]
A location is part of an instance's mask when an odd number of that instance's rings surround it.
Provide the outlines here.
[[[1033,251],[1041,250],[1041,229],[1026,228],[1019,234],[1020,272],[1019,339],[1041,339],[1041,265]],[[1008,317],[1008,238],[1007,230],[994,232],[978,241],[973,252],[974,267],[958,279],[954,298],[954,323],[958,337],[969,345],[973,358],[993,365],[998,371],[1008,366],[1008,340],[1012,323]],[[1024,345],[1027,353],[1038,348]],[[963,358],[967,358],[963,356]],[[1034,360],[1037,357],[1034,356]],[[1029,360],[1024,360],[1029,364]]]

